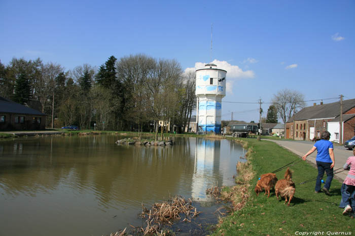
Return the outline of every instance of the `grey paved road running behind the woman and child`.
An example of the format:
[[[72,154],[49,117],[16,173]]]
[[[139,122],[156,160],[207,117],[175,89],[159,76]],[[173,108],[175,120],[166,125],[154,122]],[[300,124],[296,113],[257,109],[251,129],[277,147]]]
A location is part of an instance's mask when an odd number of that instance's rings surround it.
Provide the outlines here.
[[[273,141],[274,143],[278,144],[281,147],[284,147],[291,152],[297,154],[298,156],[302,157],[306,154],[314,145],[314,143],[310,141],[287,141],[287,140],[272,140],[272,139],[264,139]],[[315,164],[315,157],[317,152],[314,151],[311,155],[307,157],[307,160]],[[335,166],[334,170],[341,168],[338,171],[343,170],[342,167],[345,164],[345,161],[349,156],[352,156],[352,151],[347,150],[343,146],[334,146],[334,159],[335,159]],[[338,172],[337,171],[337,172]],[[344,180],[347,175],[347,171],[343,171],[341,173],[336,174],[335,176],[339,177],[340,179]]]

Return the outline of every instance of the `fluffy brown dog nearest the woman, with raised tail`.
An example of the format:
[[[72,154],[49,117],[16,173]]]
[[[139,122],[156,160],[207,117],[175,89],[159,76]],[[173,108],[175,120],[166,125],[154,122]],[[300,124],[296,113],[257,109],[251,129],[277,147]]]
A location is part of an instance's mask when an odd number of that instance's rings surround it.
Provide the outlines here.
[[[292,181],[292,173],[290,168],[287,168],[284,177],[284,179],[280,179],[276,182],[275,194],[277,199],[278,195],[280,195],[280,197],[285,197],[285,204],[289,202],[287,206],[290,206],[291,199],[295,195],[296,191],[295,183]],[[289,201],[287,200],[287,197],[289,197]]]

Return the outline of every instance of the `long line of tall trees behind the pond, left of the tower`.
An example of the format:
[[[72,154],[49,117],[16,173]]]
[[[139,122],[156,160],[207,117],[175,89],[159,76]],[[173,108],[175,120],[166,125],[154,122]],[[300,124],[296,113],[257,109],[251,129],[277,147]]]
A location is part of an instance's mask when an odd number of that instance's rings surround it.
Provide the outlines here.
[[[47,127],[158,132],[182,131],[196,106],[195,72],[179,62],[144,54],[111,56],[100,67],[65,71],[57,63],[0,61],[0,96],[20,104],[39,101]],[[163,129],[160,129],[163,132]]]

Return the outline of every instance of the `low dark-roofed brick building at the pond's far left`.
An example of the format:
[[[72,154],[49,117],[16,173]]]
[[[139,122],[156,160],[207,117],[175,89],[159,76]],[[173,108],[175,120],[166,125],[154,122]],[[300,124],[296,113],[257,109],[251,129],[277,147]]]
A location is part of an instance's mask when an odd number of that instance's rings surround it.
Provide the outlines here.
[[[0,130],[46,128],[46,114],[0,97]]]

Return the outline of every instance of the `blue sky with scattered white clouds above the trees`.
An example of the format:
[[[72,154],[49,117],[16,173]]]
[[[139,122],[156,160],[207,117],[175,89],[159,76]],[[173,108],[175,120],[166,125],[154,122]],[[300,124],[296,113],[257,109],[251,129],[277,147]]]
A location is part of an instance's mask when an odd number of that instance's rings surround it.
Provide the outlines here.
[[[258,122],[259,100],[266,117],[286,88],[307,106],[354,99],[355,1],[0,1],[5,65],[40,57],[70,70],[140,53],[227,70],[222,120]]]

